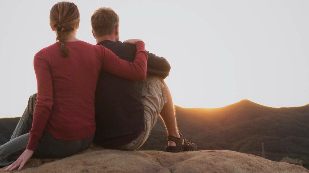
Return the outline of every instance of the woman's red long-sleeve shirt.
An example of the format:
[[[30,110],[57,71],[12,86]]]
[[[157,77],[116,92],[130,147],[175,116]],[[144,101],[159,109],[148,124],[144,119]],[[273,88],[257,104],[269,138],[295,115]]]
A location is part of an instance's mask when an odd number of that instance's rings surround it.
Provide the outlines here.
[[[136,43],[134,62],[87,42],[66,42],[69,57],[62,57],[59,43],[34,56],[38,95],[27,149],[34,151],[43,130],[54,138],[76,140],[95,134],[95,87],[99,71],[132,80],[146,78],[144,42]]]

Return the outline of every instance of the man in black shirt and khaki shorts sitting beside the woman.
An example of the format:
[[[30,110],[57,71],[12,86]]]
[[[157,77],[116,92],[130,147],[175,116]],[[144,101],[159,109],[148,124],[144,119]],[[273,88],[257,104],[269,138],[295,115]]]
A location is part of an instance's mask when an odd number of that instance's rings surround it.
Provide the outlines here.
[[[91,16],[92,33],[98,45],[133,62],[134,45],[119,41],[119,17],[111,8],[99,8]],[[147,78],[132,81],[101,70],[95,93],[96,133],[94,143],[119,150],[136,150],[148,139],[161,115],[168,133],[166,151],[196,150],[195,143],[179,134],[174,105],[164,78],[170,65],[148,52]]]

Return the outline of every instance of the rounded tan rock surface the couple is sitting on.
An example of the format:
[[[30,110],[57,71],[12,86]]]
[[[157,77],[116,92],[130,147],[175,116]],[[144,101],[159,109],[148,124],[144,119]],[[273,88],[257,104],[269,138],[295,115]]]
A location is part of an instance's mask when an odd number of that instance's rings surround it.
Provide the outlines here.
[[[4,168],[0,173],[5,172]],[[17,172],[17,171],[13,171]],[[301,166],[226,150],[167,153],[118,151],[91,147],[63,159],[31,159],[20,173],[160,172],[160,173],[309,173]]]

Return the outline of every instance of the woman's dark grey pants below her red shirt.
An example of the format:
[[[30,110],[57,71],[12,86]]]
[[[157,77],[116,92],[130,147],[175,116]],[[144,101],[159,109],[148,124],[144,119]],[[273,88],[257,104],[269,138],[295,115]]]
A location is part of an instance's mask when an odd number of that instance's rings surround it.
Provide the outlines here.
[[[36,94],[30,96],[28,106],[20,118],[11,140],[0,146],[0,167],[7,166],[23,153],[29,140],[29,131],[32,126],[33,111]],[[78,140],[59,140],[53,138],[47,131],[43,132],[32,158],[62,158],[87,149],[93,140],[92,137]]]

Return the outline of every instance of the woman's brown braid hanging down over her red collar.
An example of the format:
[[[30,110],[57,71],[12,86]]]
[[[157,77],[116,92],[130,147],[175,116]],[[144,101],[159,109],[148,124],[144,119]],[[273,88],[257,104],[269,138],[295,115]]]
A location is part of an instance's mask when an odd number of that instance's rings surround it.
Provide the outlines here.
[[[56,28],[57,31],[56,41],[58,41],[60,44],[60,54],[64,57],[68,57],[70,50],[68,47],[64,45],[64,43],[69,38],[67,35],[68,32],[74,30],[74,28],[62,27],[60,24],[55,24],[54,27]]]

